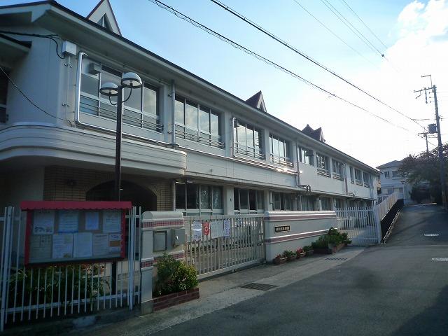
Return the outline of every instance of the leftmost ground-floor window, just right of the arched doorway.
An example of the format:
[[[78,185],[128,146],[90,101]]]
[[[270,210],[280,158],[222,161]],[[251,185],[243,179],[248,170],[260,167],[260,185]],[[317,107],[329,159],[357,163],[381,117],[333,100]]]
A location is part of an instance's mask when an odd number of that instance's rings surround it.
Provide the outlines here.
[[[223,214],[223,188],[196,183],[176,183],[176,210],[186,216]]]

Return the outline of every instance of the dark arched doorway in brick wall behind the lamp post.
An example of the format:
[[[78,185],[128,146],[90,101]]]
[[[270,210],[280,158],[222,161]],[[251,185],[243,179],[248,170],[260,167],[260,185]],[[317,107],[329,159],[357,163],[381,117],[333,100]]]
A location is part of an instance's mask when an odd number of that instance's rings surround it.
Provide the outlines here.
[[[86,201],[113,201],[115,200],[115,182],[109,181],[88,190]],[[144,187],[129,181],[121,182],[121,200],[130,201],[141,211],[157,211],[157,196]]]

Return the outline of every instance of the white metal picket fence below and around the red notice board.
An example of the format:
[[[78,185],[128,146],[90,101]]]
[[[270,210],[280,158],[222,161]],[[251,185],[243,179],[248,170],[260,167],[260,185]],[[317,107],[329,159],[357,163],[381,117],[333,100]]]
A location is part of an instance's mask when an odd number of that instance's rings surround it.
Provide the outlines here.
[[[116,262],[24,265],[25,216],[7,207],[0,217],[0,330],[37,319],[129,307],[140,302],[139,218],[127,214],[127,258]],[[116,272],[113,267],[116,267]]]

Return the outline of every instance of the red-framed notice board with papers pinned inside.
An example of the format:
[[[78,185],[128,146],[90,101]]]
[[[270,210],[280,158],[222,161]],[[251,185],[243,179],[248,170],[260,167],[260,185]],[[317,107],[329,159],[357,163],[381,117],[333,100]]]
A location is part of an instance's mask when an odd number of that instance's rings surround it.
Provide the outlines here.
[[[25,265],[125,258],[131,202],[27,201]]]

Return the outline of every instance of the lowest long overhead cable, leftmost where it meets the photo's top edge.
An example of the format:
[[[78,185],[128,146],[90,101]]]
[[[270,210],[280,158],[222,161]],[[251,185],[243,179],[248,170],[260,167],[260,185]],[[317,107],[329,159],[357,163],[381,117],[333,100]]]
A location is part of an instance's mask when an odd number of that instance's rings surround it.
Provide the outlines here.
[[[163,3],[162,1],[159,1],[159,0],[148,0],[148,1],[151,1],[152,3],[154,3],[157,6],[159,6],[160,8],[165,9],[169,13],[172,13],[172,14],[176,15],[177,18],[180,18],[181,20],[185,20],[186,22],[190,23],[191,25],[194,25],[195,27],[200,28],[200,29],[206,31],[208,34],[211,34],[212,36],[215,36],[215,37],[221,39],[221,41],[224,41],[224,42],[232,45],[234,48],[237,48],[239,50],[243,50],[248,55],[251,55],[251,56],[253,56],[253,57],[257,58],[257,59],[260,59],[263,62],[265,62],[265,63],[267,63],[267,64],[269,64],[271,66],[274,66],[274,68],[279,69],[279,70],[281,70],[281,71],[283,71],[285,73],[288,73],[290,76],[293,76],[293,77],[301,80],[303,83],[306,83],[307,85],[310,85],[311,87],[314,87],[314,88],[316,88],[316,89],[318,89],[318,90],[320,90],[322,92],[325,92],[325,94],[330,94],[331,97],[335,97],[335,98],[341,100],[342,102],[345,102],[345,103],[347,103],[347,104],[349,104],[349,105],[351,105],[353,107],[356,107],[357,109],[365,111],[370,116],[373,116],[375,118],[379,118],[379,119],[383,120],[385,123],[388,123],[390,125],[393,125],[395,127],[401,128],[402,130],[405,130],[407,132],[410,132],[410,133],[414,134],[414,132],[408,130],[407,128],[402,127],[401,125],[396,125],[396,124],[392,123],[390,120],[382,118],[381,116],[378,116],[377,114],[374,114],[374,113],[368,111],[367,109],[364,109],[362,106],[359,106],[359,105],[357,105],[357,104],[355,104],[353,102],[350,102],[347,99],[339,97],[337,94],[334,94],[334,93],[332,93],[332,92],[330,92],[328,90],[325,90],[323,87],[320,87],[320,86],[312,83],[311,81],[303,78],[302,76],[298,75],[297,73],[295,73],[293,71],[290,71],[290,70],[286,69],[285,67],[283,67],[283,66],[281,66],[279,64],[276,64],[272,60],[267,59],[266,57],[263,57],[263,56],[257,54],[256,52],[253,52],[252,50],[249,50],[248,48],[244,47],[243,45],[240,45],[239,43],[237,43],[235,41],[232,41],[230,38],[225,37],[222,34],[219,34],[218,32],[214,31],[213,29],[210,29],[209,27],[207,27],[205,25],[202,25],[202,23],[197,22],[196,20],[193,20],[188,15],[185,15],[185,14],[179,12],[179,10],[174,9],[172,6],[168,6],[167,4],[165,4],[165,3]],[[416,134],[414,134],[414,135],[416,135]]]

